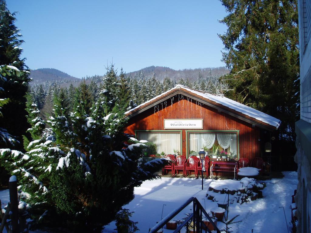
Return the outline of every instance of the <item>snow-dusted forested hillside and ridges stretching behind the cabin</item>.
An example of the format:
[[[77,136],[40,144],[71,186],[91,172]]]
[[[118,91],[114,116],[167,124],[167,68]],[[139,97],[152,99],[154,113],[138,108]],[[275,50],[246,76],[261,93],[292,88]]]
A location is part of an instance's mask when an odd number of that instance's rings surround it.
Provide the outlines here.
[[[114,69],[114,65],[111,66]],[[55,69],[40,70],[45,71],[48,75],[47,77],[32,76],[34,83],[31,86],[31,93],[43,117],[51,114],[54,95],[58,96],[61,89],[66,93],[69,105],[72,105],[70,99],[80,91],[81,87],[79,85],[82,83],[87,85],[87,89],[92,96],[91,102],[94,103],[99,95],[99,90],[103,89],[102,86],[107,77],[106,74],[104,76],[95,75],[77,79],[61,71],[57,72]],[[53,71],[53,73],[50,71]],[[224,67],[218,67],[174,71],[168,67],[150,66],[128,74],[124,73],[123,70],[119,74],[115,69],[114,72],[117,80],[116,85],[120,85],[118,89],[120,89],[120,92],[124,92],[123,95],[127,95],[128,105],[126,108],[132,108],[173,88],[177,84],[220,94],[221,89],[225,87],[220,86],[219,77],[228,73],[228,70]],[[41,72],[41,75],[44,75],[44,72]],[[57,78],[53,79],[53,77]],[[38,80],[46,81],[40,83]]]

